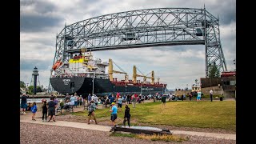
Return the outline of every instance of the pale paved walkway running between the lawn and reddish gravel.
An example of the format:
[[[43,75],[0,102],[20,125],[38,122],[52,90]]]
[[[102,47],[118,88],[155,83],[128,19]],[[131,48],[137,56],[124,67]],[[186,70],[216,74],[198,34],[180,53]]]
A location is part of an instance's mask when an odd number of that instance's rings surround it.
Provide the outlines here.
[[[82,111],[82,110],[83,110],[83,107],[74,108],[74,112]],[[64,112],[64,113],[66,113],[66,112]],[[41,111],[38,111],[38,113],[35,116],[35,119],[37,121],[32,121],[31,118],[32,118],[31,112],[28,112],[27,114],[22,114],[20,116],[20,122],[37,123],[37,124],[42,124],[42,125],[66,126],[66,127],[74,127],[74,128],[86,129],[86,130],[100,130],[100,131],[106,131],[106,132],[110,132],[110,130],[111,130],[111,126],[101,126],[101,125],[95,125],[93,123],[88,125],[87,123],[66,122],[66,121],[42,122],[42,112]],[[170,132],[172,134],[186,134],[186,135],[196,135],[196,136],[236,140],[236,134],[204,133],[204,132],[182,131],[182,130],[170,130]]]

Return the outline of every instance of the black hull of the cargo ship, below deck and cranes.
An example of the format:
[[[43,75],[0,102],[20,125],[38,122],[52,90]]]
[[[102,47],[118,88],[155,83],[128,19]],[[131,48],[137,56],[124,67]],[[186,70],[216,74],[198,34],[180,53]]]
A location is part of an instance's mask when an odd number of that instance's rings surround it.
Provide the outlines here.
[[[162,93],[165,91],[164,86],[149,86],[149,85],[134,85],[134,84],[118,84],[112,83],[109,79],[102,78],[83,78],[83,77],[73,77],[73,78],[50,78],[50,84],[53,86],[59,94],[74,94],[87,96],[92,94],[94,89],[94,94],[98,96],[104,96],[109,94],[155,94]]]

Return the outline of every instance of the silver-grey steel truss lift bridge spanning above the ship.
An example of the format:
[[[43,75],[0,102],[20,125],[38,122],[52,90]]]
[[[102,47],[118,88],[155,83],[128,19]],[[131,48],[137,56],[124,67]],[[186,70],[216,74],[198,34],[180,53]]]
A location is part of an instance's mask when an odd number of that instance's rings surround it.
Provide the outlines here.
[[[70,54],[84,48],[98,51],[194,44],[205,45],[206,77],[213,63],[220,71],[227,70],[219,19],[205,8],[131,10],[65,25],[56,37],[54,62],[67,62]]]

